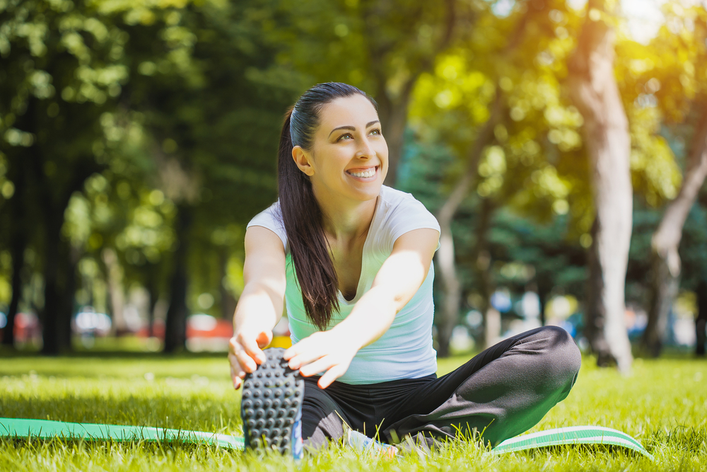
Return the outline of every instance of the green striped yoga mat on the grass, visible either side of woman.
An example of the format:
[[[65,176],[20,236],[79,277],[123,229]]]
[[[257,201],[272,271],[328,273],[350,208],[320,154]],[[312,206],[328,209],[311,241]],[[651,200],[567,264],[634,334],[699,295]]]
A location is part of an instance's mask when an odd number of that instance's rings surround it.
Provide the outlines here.
[[[93,425],[89,423],[68,423],[49,420],[21,420],[0,418],[0,437],[39,439],[86,439],[113,440],[117,442],[187,442],[191,444],[211,444],[226,449],[243,449],[243,437],[214,434],[209,432],[170,430],[160,427]],[[604,444],[626,447],[649,457],[641,443],[628,434],[607,427],[573,426],[561,427],[506,439],[491,450],[491,454],[524,451],[538,447],[560,446],[562,444]]]

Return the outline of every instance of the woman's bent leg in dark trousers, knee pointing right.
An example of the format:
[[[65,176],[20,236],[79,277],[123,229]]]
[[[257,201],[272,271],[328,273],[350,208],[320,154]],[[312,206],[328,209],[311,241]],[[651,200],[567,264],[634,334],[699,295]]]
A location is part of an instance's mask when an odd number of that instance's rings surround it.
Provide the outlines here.
[[[495,446],[529,430],[566,398],[580,362],[577,346],[562,328],[527,331],[423,386],[384,435],[443,439],[475,431]]]

